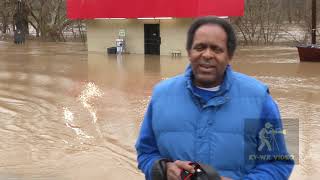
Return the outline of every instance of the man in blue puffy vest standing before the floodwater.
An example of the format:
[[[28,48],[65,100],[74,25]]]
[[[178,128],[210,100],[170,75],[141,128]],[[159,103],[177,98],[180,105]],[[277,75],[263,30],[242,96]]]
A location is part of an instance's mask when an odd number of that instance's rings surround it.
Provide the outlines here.
[[[232,26],[215,17],[196,19],[186,49],[190,66],[155,86],[141,126],[136,150],[146,179],[159,159],[166,160],[168,180],[193,172],[190,162],[211,166],[222,179],[288,179],[293,160],[277,158],[288,156],[283,134],[275,137],[277,149],[258,149],[265,123],[278,129],[282,123],[268,88],[231,69]]]

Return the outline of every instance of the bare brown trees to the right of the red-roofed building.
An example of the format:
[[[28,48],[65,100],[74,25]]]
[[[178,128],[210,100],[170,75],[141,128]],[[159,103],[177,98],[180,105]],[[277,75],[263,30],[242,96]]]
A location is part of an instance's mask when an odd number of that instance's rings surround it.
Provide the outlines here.
[[[320,2],[317,6],[320,10]],[[244,44],[273,44],[280,36],[306,43],[311,34],[311,0],[245,0],[245,15],[232,22]]]

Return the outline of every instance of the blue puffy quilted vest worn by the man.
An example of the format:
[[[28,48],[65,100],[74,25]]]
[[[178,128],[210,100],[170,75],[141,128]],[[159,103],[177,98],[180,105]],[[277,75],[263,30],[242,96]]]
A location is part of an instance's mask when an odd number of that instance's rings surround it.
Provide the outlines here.
[[[152,97],[152,128],[162,157],[201,162],[241,178],[255,164],[257,132],[268,88],[227,68],[217,95],[203,102],[193,92],[191,68],[159,83]]]

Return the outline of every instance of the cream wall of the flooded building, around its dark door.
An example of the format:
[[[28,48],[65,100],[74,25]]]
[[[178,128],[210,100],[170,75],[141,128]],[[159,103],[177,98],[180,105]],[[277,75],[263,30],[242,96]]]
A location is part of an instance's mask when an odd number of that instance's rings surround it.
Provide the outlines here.
[[[115,46],[119,30],[126,31],[126,50],[129,53],[144,54],[144,24],[160,24],[160,54],[171,55],[172,50],[180,50],[186,56],[187,30],[192,19],[98,19],[87,23],[88,51],[106,52]]]

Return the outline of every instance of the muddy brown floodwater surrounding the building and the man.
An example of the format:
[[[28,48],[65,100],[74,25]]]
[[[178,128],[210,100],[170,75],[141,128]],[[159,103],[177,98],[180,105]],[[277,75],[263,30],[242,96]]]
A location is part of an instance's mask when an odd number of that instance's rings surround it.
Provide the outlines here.
[[[133,144],[152,87],[187,64],[87,54],[74,43],[0,42],[0,179],[142,180]],[[232,66],[269,85],[293,129],[291,179],[320,176],[320,63],[299,63],[295,48],[246,47]]]

